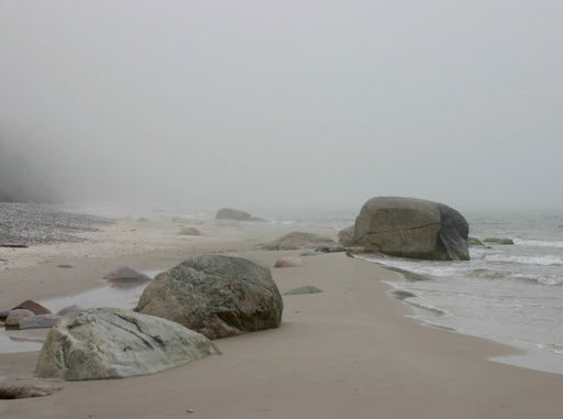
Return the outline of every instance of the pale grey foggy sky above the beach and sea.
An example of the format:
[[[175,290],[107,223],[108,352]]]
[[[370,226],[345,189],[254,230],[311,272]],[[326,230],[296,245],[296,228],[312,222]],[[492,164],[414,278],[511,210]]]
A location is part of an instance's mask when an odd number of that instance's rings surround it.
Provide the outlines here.
[[[73,198],[563,208],[563,2],[0,0],[0,135]]]

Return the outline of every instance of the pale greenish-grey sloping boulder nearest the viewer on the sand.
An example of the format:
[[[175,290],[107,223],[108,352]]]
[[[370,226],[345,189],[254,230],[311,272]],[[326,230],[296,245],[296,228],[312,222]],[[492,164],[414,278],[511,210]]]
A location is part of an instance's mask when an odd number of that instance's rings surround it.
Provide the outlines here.
[[[206,337],[166,319],[93,308],[67,315],[49,331],[35,376],[123,378],[154,374],[218,353]]]

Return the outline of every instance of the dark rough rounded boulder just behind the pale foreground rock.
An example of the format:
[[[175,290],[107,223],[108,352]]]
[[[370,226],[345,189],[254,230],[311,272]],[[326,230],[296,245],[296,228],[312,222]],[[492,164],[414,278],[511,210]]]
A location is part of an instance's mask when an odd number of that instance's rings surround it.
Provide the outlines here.
[[[135,311],[217,339],[277,328],[283,309],[269,269],[241,257],[203,255],[158,274]]]

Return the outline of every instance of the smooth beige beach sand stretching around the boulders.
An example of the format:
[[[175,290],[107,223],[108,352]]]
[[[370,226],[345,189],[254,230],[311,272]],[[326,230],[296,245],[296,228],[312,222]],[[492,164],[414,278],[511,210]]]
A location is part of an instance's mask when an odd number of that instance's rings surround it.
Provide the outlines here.
[[[221,252],[269,266],[299,251],[267,252],[261,242],[295,225],[178,225],[122,220],[91,242],[12,253],[0,271],[0,308],[104,284],[124,263],[165,269],[184,257]],[[335,236],[335,231],[316,229]],[[24,250],[25,251],[25,250]],[[32,252],[36,254],[31,255]],[[279,329],[217,340],[222,355],[151,376],[57,382],[62,392],[0,400],[1,418],[561,418],[563,375],[488,361],[516,350],[424,327],[388,296],[382,280],[400,275],[343,253],[272,268],[282,294],[305,285],[321,294],[284,296]],[[70,264],[60,268],[57,264]],[[0,269],[2,267],[0,266]],[[30,376],[37,352],[0,354],[0,376]]]

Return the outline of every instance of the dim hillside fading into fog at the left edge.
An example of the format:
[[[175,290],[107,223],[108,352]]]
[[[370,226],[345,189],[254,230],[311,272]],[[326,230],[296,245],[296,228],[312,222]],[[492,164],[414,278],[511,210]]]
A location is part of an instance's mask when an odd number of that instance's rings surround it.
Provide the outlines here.
[[[24,156],[0,144],[0,202],[56,203],[60,194],[46,186]]]

